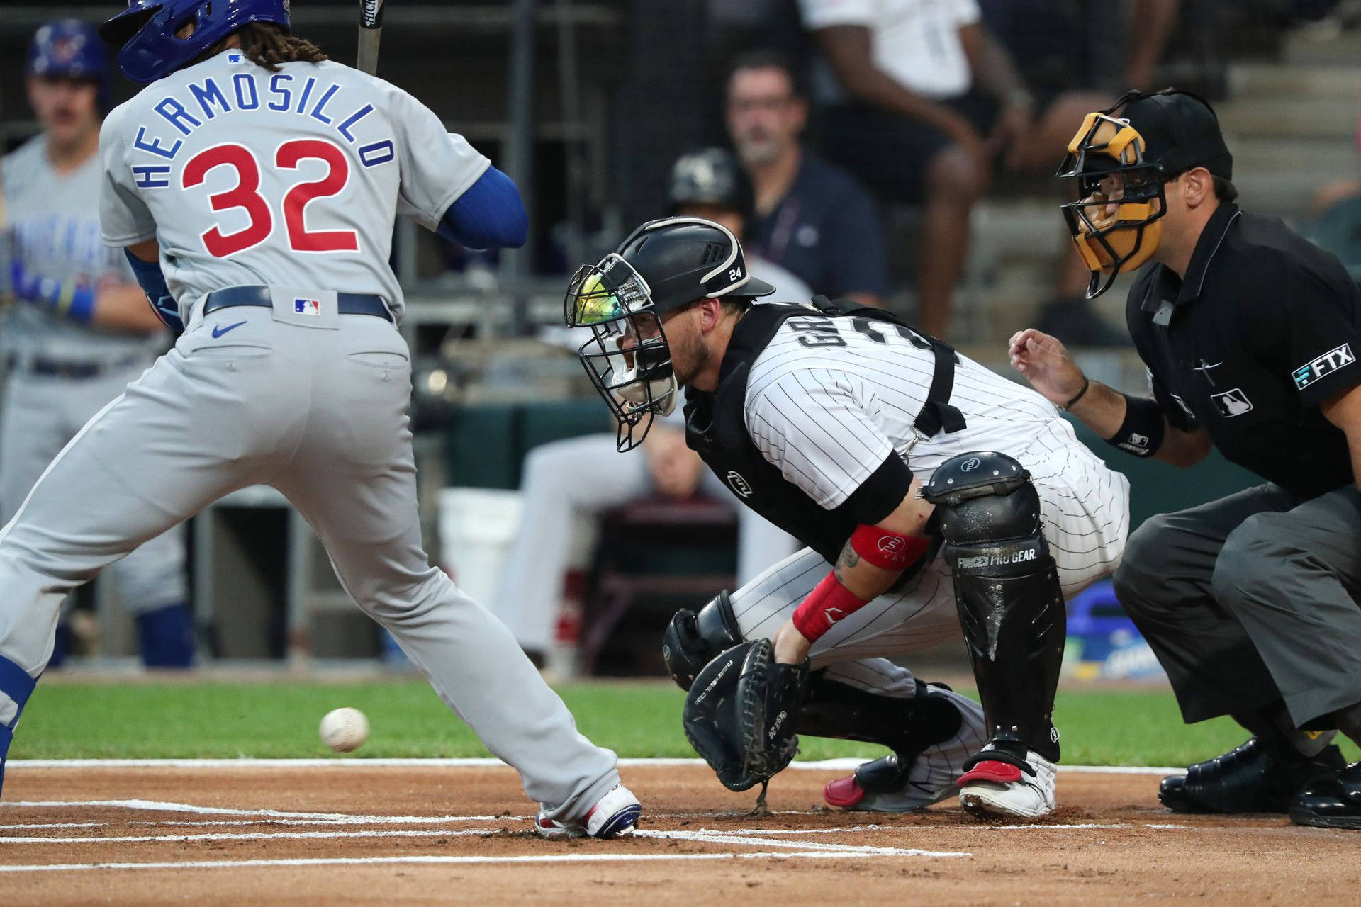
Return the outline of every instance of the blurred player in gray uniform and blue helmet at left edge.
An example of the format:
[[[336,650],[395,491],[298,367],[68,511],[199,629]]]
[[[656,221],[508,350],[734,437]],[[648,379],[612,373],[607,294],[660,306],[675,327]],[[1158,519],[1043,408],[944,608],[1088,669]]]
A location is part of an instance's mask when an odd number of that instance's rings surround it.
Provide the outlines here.
[[[94,26],[63,19],[38,29],[27,76],[44,131],[0,165],[16,296],[0,328],[0,348],[11,363],[0,409],[0,522],[19,510],[90,416],[136,381],[167,341],[122,253],[99,239],[99,117],[109,71]],[[176,526],[113,567],[147,666],[188,668],[193,661],[184,562],[184,529]],[[68,636],[63,626],[53,665]]]

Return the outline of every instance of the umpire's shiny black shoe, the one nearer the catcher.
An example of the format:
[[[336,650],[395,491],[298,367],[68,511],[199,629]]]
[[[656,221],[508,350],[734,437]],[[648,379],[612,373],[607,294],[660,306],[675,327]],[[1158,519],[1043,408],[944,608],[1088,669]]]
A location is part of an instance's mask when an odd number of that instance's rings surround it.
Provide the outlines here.
[[[1346,767],[1342,751],[1324,747],[1311,757],[1282,757],[1252,737],[1237,749],[1187,768],[1185,775],[1169,775],[1158,786],[1158,800],[1177,813],[1283,813],[1294,795],[1317,775],[1331,775]],[[1361,791],[1361,771],[1353,790]],[[1361,816],[1361,798],[1350,806]]]

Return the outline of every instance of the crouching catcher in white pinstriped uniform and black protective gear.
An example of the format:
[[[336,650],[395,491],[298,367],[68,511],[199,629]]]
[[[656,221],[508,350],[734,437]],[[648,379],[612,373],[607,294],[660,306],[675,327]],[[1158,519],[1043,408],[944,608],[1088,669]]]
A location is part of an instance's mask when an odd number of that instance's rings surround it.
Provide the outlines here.
[[[915,809],[958,783],[970,809],[1051,812],[1063,600],[1119,562],[1126,479],[1043,397],[893,315],[751,305],[769,292],[698,218],[641,226],[568,291],[621,446],[686,388],[690,446],[807,545],[667,631],[691,742],[735,790],[799,732],[894,751],[832,782],[837,806]],[[981,710],[887,660],[961,623]]]

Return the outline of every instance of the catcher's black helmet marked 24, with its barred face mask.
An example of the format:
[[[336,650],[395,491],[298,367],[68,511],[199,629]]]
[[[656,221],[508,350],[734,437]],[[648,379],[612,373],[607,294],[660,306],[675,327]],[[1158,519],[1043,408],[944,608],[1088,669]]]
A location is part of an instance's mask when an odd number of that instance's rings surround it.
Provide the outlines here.
[[[774,287],[747,273],[742,243],[702,218],[642,224],[568,284],[568,325],[591,328],[581,364],[619,423],[618,447],[642,443],[653,415],[670,415],[679,385],[661,315],[701,299],[754,298]]]

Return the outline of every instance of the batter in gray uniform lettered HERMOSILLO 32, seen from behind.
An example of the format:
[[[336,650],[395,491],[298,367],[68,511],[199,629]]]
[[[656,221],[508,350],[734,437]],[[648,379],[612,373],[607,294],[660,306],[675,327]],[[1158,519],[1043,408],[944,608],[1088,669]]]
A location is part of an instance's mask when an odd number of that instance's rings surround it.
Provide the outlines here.
[[[421,547],[393,219],[520,245],[514,184],[407,92],[291,37],[287,0],[132,0],[101,35],[152,83],[101,133],[103,239],[185,330],[0,530],[0,755],[61,598],[211,500],[269,484],[355,602],[520,770],[540,834],[632,831],[641,808],[614,753]]]

